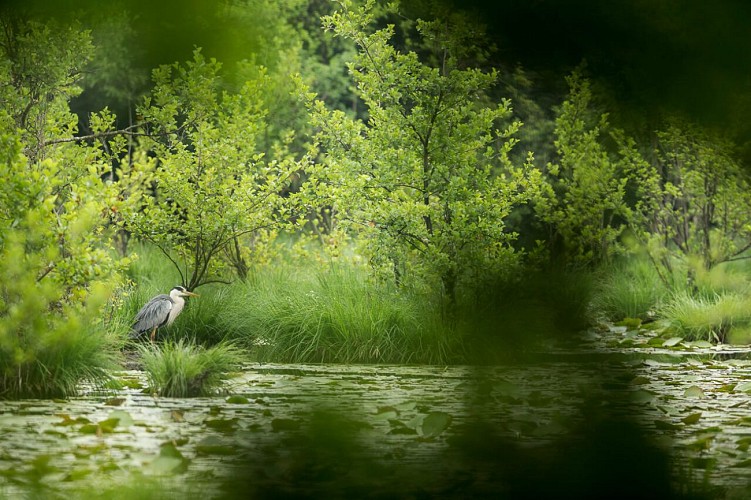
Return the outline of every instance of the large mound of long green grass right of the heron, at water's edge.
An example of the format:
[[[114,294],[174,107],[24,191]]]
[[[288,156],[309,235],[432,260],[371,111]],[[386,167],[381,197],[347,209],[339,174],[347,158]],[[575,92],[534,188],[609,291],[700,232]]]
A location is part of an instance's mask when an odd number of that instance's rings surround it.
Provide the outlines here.
[[[456,352],[424,301],[352,265],[262,272],[233,304],[227,320],[260,360],[445,363]]]

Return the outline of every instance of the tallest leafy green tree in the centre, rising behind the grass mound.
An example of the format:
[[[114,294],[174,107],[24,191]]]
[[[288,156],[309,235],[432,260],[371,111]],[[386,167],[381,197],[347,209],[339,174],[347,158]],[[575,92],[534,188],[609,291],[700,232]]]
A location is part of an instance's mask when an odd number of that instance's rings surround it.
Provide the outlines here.
[[[516,261],[504,220],[539,187],[539,172],[511,165],[520,123],[508,123],[508,101],[482,105],[497,75],[460,69],[440,23],[417,23],[439,47],[431,67],[391,44],[393,26],[372,31],[373,1],[340,5],[324,26],[358,46],[349,70],[368,120],[306,96],[325,152],[312,174],[326,181],[334,211],[365,236],[376,263],[390,263],[397,282],[410,271],[436,277],[453,304],[461,283]],[[441,32],[447,36],[435,36]]]

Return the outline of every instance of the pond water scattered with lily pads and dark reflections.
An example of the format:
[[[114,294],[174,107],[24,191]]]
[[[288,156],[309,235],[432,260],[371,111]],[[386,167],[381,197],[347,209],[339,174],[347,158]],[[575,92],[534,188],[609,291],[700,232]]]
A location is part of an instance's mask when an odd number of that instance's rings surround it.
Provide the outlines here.
[[[747,491],[747,349],[595,344],[502,367],[248,364],[208,398],[123,371],[0,401],[0,497]]]

